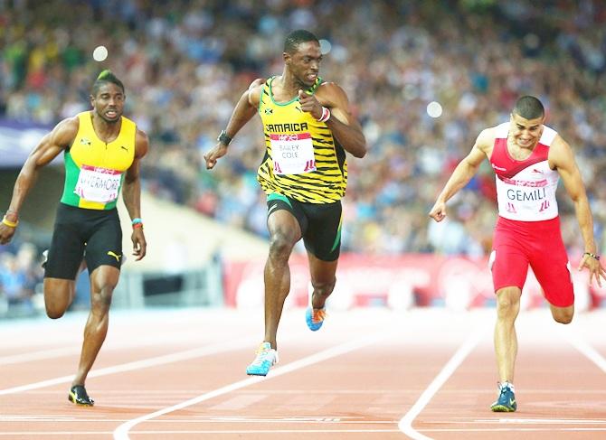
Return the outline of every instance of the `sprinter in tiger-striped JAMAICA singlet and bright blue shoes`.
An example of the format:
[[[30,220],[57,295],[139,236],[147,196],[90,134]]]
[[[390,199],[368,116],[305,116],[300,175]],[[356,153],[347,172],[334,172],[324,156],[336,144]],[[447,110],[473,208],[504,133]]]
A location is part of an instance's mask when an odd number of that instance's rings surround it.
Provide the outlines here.
[[[251,83],[217,144],[204,154],[206,168],[212,169],[232,137],[259,112],[266,153],[257,180],[267,193],[270,255],[265,265],[265,338],[246,369],[255,376],[266,376],[278,361],[276,334],[289,295],[289,256],[299,239],[308,250],[314,288],[306,321],[312,331],[322,326],[341,246],[346,152],[366,154],[365,136],[345,91],[318,76],[322,53],[316,36],[304,30],[289,33],[282,57],[282,75]]]

